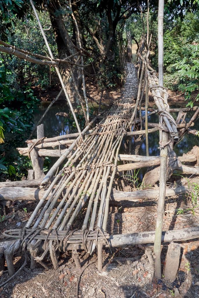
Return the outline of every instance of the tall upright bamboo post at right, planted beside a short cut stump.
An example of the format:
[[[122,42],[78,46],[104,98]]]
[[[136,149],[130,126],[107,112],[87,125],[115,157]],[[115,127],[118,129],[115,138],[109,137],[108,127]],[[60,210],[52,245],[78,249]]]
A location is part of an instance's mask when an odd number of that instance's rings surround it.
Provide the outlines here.
[[[158,5],[158,80],[159,86],[163,86],[163,14],[164,14],[164,0],[159,0]],[[166,144],[168,142],[168,133],[162,132],[161,143]],[[160,150],[160,186],[158,197],[158,210],[157,220],[155,228],[155,242],[154,242],[154,254],[155,254],[155,276],[161,278],[161,236],[164,214],[164,202],[166,192],[166,166],[167,166],[168,146],[161,148]]]

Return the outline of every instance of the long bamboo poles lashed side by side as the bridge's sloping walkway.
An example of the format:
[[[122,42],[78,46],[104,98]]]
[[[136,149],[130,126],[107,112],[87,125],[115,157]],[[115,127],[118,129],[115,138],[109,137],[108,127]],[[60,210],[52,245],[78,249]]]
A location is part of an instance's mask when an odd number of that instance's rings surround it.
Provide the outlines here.
[[[116,172],[119,148],[126,134],[133,108],[132,99],[122,98],[120,102],[110,108],[109,112],[105,112],[104,119],[91,130],[90,134],[86,135],[84,139],[81,136],[77,138],[75,152],[67,159],[64,167],[55,176],[47,192],[38,203],[22,231],[23,236],[7,249],[5,255],[8,264],[11,263],[13,253],[21,245],[21,240],[27,237],[25,236],[27,235],[26,230],[29,231],[30,237],[22,242],[23,249],[28,243],[27,248],[40,263],[50,251],[54,267],[57,266],[57,262],[55,254],[52,253],[53,240],[47,241],[48,245],[44,253],[40,257],[37,256],[37,247],[42,240],[37,239],[36,235],[41,235],[42,230],[53,230],[55,234],[56,231],[58,234],[64,232],[63,238],[67,237],[71,228],[79,231],[94,231],[96,228],[97,231],[101,229],[106,231],[109,198]],[[50,176],[47,174],[47,177]],[[60,199],[64,190],[66,193]],[[50,197],[45,202],[48,195]],[[78,224],[77,215],[86,203],[87,209],[83,224]],[[32,229],[32,233],[29,229]],[[96,240],[89,239],[88,237],[87,248],[92,253],[97,245],[97,238]],[[79,240],[76,240],[79,243]]]

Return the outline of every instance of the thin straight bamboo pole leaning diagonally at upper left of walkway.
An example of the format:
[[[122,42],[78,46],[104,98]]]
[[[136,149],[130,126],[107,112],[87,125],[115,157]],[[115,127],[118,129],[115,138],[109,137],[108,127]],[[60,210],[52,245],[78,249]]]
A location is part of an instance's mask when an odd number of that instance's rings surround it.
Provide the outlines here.
[[[37,19],[37,21],[38,21],[39,28],[40,28],[40,30],[41,30],[41,34],[42,34],[42,36],[43,36],[43,38],[44,38],[44,41],[45,41],[45,43],[46,43],[46,46],[47,46],[48,52],[49,52],[49,54],[50,54],[50,57],[51,57],[51,59],[54,59],[54,58],[53,58],[53,53],[51,52],[50,46],[49,46],[49,44],[48,44],[48,41],[47,41],[46,35],[45,35],[45,33],[44,33],[44,30],[43,30],[43,28],[42,28],[42,26],[41,26],[41,22],[40,22],[40,20],[39,20],[39,17],[38,17],[38,14],[37,14],[37,12],[36,12],[36,9],[35,9],[35,6],[34,6],[34,4],[33,4],[33,1],[30,0],[30,3],[31,3],[31,5],[32,5],[32,7],[33,7],[33,11],[34,11],[35,16],[36,16],[36,19]],[[70,106],[70,109],[71,109],[72,115],[73,115],[73,117],[74,117],[75,123],[76,123],[76,125],[77,125],[78,132],[81,133],[81,129],[80,129],[80,127],[79,127],[79,123],[78,123],[77,118],[76,118],[76,116],[75,116],[75,112],[74,112],[74,110],[73,110],[73,107],[72,107],[70,98],[69,98],[68,93],[67,93],[67,91],[66,91],[66,88],[65,88],[64,82],[63,82],[63,80],[62,80],[61,74],[60,74],[60,72],[59,72],[59,69],[58,69],[57,66],[55,66],[55,69],[56,69],[56,72],[57,72],[57,74],[58,74],[59,80],[60,80],[60,82],[61,82],[61,87],[63,88],[64,93],[65,93],[65,95],[66,95],[67,102],[68,102],[68,104],[69,104],[69,106]]]

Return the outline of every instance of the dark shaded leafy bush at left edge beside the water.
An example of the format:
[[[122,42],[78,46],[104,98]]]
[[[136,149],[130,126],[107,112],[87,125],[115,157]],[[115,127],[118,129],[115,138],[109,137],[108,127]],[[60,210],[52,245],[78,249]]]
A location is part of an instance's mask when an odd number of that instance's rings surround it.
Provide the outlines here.
[[[21,147],[30,134],[38,99],[28,86],[13,88],[8,79],[10,71],[4,60],[0,59],[0,63],[0,174],[1,178],[8,175],[16,179],[31,167],[30,159],[19,156],[16,148]]]

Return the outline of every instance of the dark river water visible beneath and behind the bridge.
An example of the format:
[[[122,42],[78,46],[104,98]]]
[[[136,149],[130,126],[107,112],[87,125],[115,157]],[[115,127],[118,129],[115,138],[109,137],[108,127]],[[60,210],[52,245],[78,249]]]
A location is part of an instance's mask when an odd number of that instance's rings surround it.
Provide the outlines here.
[[[41,103],[38,111],[35,114],[35,123],[37,123],[38,120],[41,118],[44,111],[47,109],[48,105],[49,105],[49,102]],[[175,108],[176,106],[172,105],[170,107]],[[96,108],[96,111],[97,111],[97,108]],[[68,112],[68,106],[66,102],[63,101],[63,102],[55,103],[55,105],[53,105],[50,108],[50,111],[48,111],[47,115],[44,117],[42,123],[44,124],[44,135],[46,137],[54,137],[54,136],[59,136],[67,133],[77,132],[77,129],[72,127],[71,121],[68,122],[67,118],[61,117],[61,116],[55,116],[55,114],[58,112],[66,112],[66,113]],[[142,111],[142,115],[144,114],[145,112]],[[176,119],[176,117],[178,116],[178,113],[171,113],[171,114],[174,117],[174,119]],[[192,115],[193,115],[193,112],[187,113],[186,122],[189,121]],[[148,121],[153,123],[158,123],[158,114],[149,116]],[[199,130],[199,119],[195,121],[194,129]],[[124,142],[125,140],[122,143],[120,153],[126,153],[124,148]],[[134,141],[132,140],[132,147],[133,147],[133,142]],[[189,152],[195,145],[199,146],[199,137],[194,136],[192,134],[186,134],[181,140],[181,142],[179,142],[174,146],[174,151],[178,156],[182,156],[183,153]],[[149,155],[150,156],[159,155],[160,149],[158,149],[158,147],[159,147],[159,132],[157,131],[149,134]],[[139,155],[146,155],[145,139],[139,149]]]

